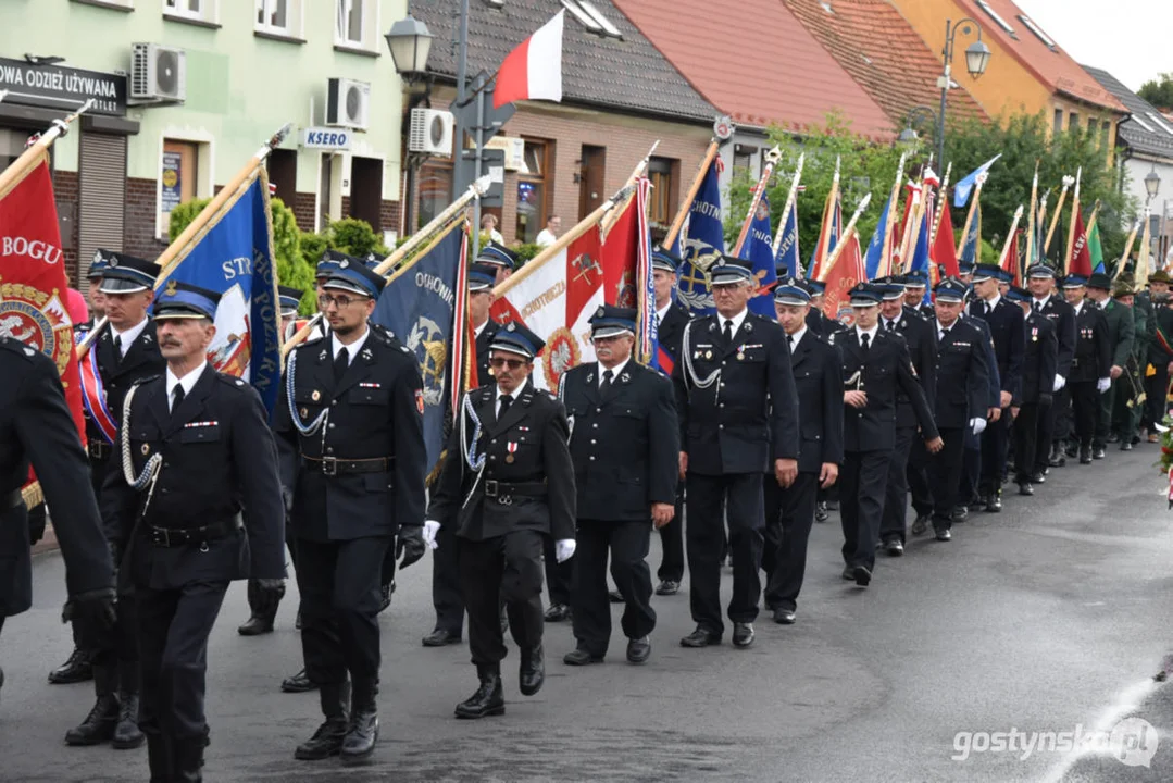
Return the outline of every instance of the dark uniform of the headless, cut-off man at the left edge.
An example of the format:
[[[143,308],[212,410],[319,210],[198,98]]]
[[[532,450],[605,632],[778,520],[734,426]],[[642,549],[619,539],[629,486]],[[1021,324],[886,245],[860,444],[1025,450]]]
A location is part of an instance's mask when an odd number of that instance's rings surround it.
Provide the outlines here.
[[[32,463],[45,497],[53,505],[53,528],[66,562],[66,587],[74,626],[84,646],[103,609],[113,622],[114,565],[99,519],[77,427],[66,406],[57,367],[43,353],[0,337],[0,628],[5,617],[29,608],[33,600],[28,519],[21,486]],[[101,607],[99,605],[102,605]],[[84,619],[83,619],[84,617]],[[4,674],[0,673],[0,683]]]

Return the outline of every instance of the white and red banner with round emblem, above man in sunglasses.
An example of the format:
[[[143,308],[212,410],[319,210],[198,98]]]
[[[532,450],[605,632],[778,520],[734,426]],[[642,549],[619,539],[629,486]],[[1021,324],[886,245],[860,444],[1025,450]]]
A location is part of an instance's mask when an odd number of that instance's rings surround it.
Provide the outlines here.
[[[563,372],[595,360],[588,322],[603,304],[601,254],[594,225],[493,303],[499,324],[520,320],[545,340],[533,374],[538,389],[556,390]]]

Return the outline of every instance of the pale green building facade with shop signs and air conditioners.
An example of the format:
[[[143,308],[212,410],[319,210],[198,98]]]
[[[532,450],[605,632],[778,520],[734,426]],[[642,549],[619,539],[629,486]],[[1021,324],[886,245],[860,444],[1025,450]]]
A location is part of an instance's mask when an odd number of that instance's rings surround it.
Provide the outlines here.
[[[399,230],[402,88],[382,39],[406,0],[0,4],[0,166],[95,107],[53,150],[70,276],[99,247],[154,258],[170,211],[208,197],[284,123],[270,181],[303,230]]]

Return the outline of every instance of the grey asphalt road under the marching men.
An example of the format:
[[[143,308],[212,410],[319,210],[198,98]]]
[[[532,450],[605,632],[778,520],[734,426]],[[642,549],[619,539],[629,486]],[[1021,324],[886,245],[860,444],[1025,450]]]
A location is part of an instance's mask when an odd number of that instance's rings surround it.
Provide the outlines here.
[[[561,662],[569,627],[548,626],[544,689],[520,695],[510,650],[507,714],[479,722],[452,716],[476,687],[467,646],[420,646],[432,628],[425,561],[382,615],[381,744],[357,769],[293,760],[319,722],[316,695],[278,691],[300,668],[296,602],[273,635],[244,639],[237,583],[209,653],[206,779],[1173,779],[1173,693],[1153,682],[1173,670],[1173,515],[1155,459],[1145,445],[1053,470],[1033,498],[971,514],[952,542],[881,559],[867,590],[840,579],[833,513],[812,536],[798,625],[764,616],[748,650],[683,649],[685,585],[656,599],[646,666],[624,661],[616,608],[606,662],[582,669]],[[33,610],[0,641],[0,779],[147,779],[142,750],[63,745],[91,690],[46,684],[70,644],[60,558],[42,556],[34,579]]]

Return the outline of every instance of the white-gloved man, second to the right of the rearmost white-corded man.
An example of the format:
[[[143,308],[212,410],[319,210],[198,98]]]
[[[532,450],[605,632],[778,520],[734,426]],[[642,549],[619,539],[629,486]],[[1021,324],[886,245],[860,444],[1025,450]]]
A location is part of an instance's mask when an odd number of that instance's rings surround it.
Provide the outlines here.
[[[992,282],[991,282],[992,284]],[[933,487],[933,528],[938,541],[952,538],[967,439],[981,437],[990,414],[989,338],[972,319],[961,317],[965,284],[947,277],[936,288],[937,430],[944,446],[929,463]]]

